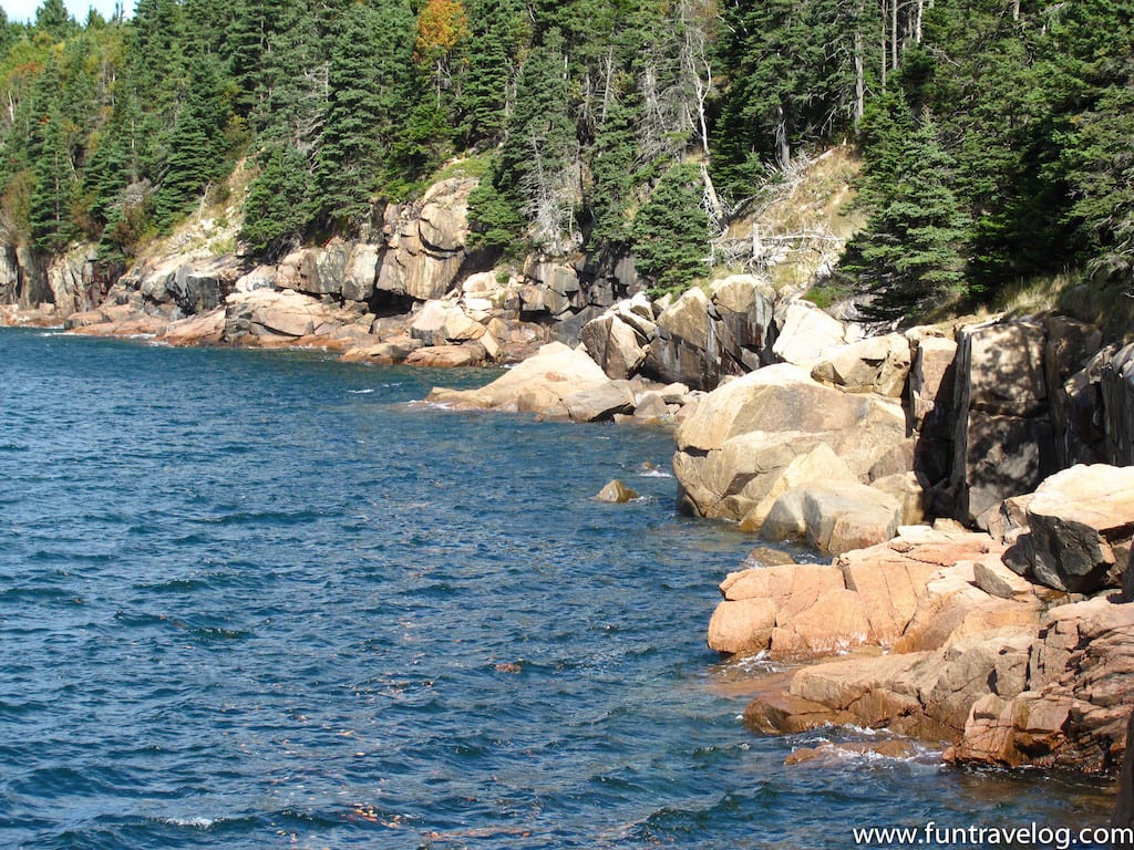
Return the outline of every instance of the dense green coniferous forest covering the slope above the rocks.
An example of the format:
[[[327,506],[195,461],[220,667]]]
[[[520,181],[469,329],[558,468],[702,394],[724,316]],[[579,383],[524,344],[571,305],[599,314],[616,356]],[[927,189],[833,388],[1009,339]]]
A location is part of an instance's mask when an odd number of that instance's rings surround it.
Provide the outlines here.
[[[880,315],[1058,274],[1131,289],[1134,2],[139,0],[0,12],[0,237],[128,262],[245,161],[242,239],[355,235],[447,162],[474,247],[632,252],[659,287],[850,142],[836,270]]]

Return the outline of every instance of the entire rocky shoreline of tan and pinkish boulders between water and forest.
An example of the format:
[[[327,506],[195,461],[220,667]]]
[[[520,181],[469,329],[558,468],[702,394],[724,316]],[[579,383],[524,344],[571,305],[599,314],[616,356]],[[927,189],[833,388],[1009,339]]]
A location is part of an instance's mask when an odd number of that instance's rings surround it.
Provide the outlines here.
[[[710,646],[803,664],[748,707],[754,730],[855,723],[946,743],[955,764],[1118,768],[1134,702],[1134,346],[1061,316],[871,335],[752,274],[652,300],[628,262],[468,273],[471,186],[389,207],[380,239],[274,266],[178,255],[103,289],[90,261],[65,258],[0,322],[517,364],[430,399],[670,426],[684,511],[831,556],[756,555],[721,585]]]

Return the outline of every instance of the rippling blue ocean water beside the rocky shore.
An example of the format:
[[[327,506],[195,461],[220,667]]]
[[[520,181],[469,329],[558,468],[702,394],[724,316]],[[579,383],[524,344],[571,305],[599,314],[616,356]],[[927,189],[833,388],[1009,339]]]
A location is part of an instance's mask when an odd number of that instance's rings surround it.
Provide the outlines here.
[[[1106,784],[932,753],[785,766],[869,736],[741,723],[704,631],[752,539],[675,515],[668,434],[414,403],[490,377],[0,333],[0,847],[1105,823]]]

